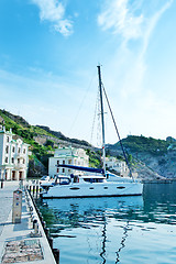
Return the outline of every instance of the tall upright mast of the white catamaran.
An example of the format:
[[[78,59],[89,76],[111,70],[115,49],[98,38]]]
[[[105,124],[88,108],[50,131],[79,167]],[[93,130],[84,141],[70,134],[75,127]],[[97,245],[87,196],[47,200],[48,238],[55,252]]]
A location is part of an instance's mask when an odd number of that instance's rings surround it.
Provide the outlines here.
[[[106,139],[105,139],[105,120],[103,120],[103,102],[102,102],[102,84],[101,84],[101,70],[100,65],[98,67],[98,77],[99,77],[99,91],[100,91],[100,105],[101,105],[101,127],[102,127],[102,163],[103,170],[106,175]]]

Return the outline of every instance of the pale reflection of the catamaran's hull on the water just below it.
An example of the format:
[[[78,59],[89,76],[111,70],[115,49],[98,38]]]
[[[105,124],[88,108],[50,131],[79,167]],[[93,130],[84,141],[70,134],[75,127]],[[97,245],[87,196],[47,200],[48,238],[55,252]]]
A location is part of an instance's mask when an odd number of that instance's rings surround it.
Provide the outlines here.
[[[43,212],[55,218],[56,230],[65,228],[90,229],[105,222],[105,218],[129,219],[139,216],[142,197],[51,199],[41,204]],[[46,219],[47,221],[47,219]],[[53,226],[53,223],[52,223]]]

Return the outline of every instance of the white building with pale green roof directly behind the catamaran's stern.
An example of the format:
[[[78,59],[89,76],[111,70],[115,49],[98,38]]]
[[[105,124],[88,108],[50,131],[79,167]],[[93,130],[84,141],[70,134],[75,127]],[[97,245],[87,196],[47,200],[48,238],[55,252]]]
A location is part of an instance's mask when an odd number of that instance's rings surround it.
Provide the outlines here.
[[[82,148],[75,147],[58,147],[55,151],[54,157],[50,157],[48,162],[48,175],[70,175],[70,174],[81,174],[79,170],[57,167],[57,164],[76,165],[76,166],[89,166],[89,156]]]

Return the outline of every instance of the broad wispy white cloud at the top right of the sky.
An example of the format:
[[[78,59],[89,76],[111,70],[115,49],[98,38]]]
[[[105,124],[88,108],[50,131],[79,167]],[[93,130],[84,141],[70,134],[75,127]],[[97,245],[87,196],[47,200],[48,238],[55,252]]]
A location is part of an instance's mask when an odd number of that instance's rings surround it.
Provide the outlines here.
[[[145,47],[148,38],[162,14],[172,6],[173,0],[158,8],[148,11],[141,9],[141,0],[131,3],[130,0],[106,0],[101,13],[98,15],[98,24],[102,30],[111,30],[113,34],[120,34],[123,41],[144,38]],[[148,2],[148,7],[152,2]],[[153,12],[153,13],[152,13]],[[145,14],[147,13],[147,14]]]

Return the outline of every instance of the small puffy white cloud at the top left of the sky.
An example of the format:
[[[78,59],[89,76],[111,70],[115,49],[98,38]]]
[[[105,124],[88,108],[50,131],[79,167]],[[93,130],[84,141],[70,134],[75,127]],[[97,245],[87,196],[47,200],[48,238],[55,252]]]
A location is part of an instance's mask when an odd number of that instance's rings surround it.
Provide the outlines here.
[[[40,8],[41,21],[50,21],[56,32],[68,36],[73,33],[73,21],[65,19],[65,8],[57,0],[31,0]]]

